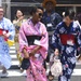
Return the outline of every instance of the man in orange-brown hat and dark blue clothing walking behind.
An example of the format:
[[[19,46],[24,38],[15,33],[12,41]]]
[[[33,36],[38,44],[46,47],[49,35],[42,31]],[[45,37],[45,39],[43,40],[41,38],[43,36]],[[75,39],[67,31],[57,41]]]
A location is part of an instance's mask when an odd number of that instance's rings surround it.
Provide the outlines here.
[[[52,45],[51,45],[52,42],[51,38],[54,30],[56,29],[56,25],[62,22],[62,16],[55,12],[56,0],[44,0],[42,2],[42,6],[44,8],[45,11],[43,13],[43,17],[41,22],[45,25],[46,30],[49,32],[49,54],[46,57],[46,62],[49,63],[50,56],[53,53]],[[46,69],[45,63],[44,63],[44,67]],[[51,72],[49,75],[51,75]]]

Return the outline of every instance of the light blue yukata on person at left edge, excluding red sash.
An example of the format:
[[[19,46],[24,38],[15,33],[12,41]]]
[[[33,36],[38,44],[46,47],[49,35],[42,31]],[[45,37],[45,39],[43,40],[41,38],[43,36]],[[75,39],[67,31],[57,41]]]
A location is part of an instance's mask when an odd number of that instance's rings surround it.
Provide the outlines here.
[[[0,29],[9,30],[9,39],[14,40],[15,29],[10,19],[3,17],[0,21]],[[4,38],[0,36],[0,65],[3,65],[6,69],[11,67],[11,57],[9,54],[10,48]]]

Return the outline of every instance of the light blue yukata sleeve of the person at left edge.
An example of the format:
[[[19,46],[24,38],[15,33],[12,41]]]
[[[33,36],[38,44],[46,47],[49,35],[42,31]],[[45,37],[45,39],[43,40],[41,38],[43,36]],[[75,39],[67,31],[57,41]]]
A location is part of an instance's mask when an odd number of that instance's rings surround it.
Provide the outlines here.
[[[15,28],[14,28],[14,25],[11,23],[11,21],[8,22],[8,28],[9,28],[9,32],[8,32],[8,36],[10,40],[14,40],[14,36],[15,36]]]

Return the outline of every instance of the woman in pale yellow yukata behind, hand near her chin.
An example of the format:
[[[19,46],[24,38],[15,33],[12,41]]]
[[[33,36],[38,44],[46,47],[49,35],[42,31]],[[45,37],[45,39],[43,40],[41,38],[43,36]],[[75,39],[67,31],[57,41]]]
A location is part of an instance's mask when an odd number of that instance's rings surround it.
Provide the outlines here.
[[[21,28],[21,26],[24,22],[26,22],[25,15],[23,14],[23,12],[21,10],[17,10],[15,19],[13,21],[13,24],[15,26],[14,41],[15,41],[15,49],[16,49],[17,58],[19,60],[19,66],[21,66],[21,63],[22,63],[23,58],[22,58],[22,55],[21,55],[21,52],[19,52],[18,32],[19,32],[19,28]],[[23,71],[22,68],[21,68],[21,71]]]

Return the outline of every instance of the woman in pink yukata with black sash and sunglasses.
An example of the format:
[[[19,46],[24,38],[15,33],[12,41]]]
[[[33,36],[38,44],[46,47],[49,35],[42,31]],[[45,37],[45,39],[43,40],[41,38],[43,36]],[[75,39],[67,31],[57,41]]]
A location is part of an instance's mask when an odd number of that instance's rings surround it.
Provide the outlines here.
[[[42,8],[31,9],[31,18],[25,22],[19,30],[19,51],[24,58],[29,58],[30,66],[27,69],[27,81],[48,81],[43,60],[48,55],[49,38],[41,17]]]

